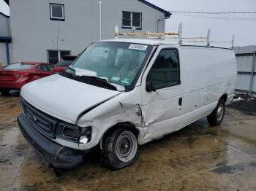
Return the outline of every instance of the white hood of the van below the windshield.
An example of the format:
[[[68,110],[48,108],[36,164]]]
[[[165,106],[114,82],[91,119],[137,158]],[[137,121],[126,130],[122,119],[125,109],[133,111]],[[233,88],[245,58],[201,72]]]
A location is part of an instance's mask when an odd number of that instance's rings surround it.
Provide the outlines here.
[[[120,93],[55,74],[24,85],[20,95],[42,112],[75,123],[82,112]]]

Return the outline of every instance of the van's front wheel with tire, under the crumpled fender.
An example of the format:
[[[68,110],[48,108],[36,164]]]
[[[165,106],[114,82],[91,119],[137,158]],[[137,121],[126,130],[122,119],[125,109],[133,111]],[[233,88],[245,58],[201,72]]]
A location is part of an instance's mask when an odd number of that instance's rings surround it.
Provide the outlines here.
[[[130,128],[113,130],[106,137],[103,146],[103,163],[113,171],[131,165],[139,155],[137,136]]]

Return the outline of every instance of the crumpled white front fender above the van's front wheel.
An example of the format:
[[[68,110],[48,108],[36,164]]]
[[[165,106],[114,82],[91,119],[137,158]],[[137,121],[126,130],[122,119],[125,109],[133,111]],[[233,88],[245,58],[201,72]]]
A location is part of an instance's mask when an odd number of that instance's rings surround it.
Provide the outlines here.
[[[140,90],[140,88],[137,88]],[[140,107],[140,93],[122,93],[92,109],[77,122],[80,127],[91,126],[91,141],[80,144],[80,149],[89,149],[99,144],[105,132],[120,123],[127,122],[138,130],[138,144],[145,136],[143,114]],[[134,96],[135,95],[135,96]]]

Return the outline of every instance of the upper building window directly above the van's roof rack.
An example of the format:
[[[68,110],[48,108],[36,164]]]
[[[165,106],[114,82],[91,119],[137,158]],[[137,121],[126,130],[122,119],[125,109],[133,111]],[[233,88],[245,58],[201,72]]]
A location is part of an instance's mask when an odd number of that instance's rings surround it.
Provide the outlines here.
[[[123,11],[122,28],[132,28],[135,26],[136,29],[141,29],[141,18],[141,12]]]

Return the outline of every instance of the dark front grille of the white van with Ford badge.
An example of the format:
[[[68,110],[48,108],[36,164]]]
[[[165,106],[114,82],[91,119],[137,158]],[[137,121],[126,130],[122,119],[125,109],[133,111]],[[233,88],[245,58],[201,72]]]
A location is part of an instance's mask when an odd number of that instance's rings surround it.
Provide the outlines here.
[[[44,133],[46,136],[56,139],[56,128],[61,120],[41,112],[39,109],[31,106],[31,104],[26,102],[22,97],[20,97],[20,102],[23,107],[23,112],[31,125],[33,125],[34,128],[40,132]]]

